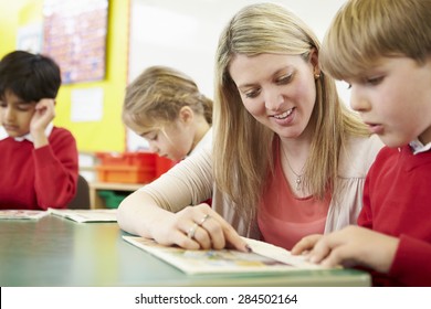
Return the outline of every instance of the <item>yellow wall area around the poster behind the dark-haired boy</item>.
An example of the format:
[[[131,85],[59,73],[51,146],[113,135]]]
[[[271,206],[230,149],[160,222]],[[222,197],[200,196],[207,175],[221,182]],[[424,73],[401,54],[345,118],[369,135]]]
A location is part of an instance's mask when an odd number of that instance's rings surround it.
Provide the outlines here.
[[[0,0],[0,56],[15,50],[20,26],[42,20],[42,8],[43,0]],[[99,82],[62,85],[60,88],[54,125],[72,131],[80,151],[125,150],[125,127],[120,111],[127,83],[128,17],[129,0],[109,0],[106,77]],[[72,121],[73,90],[91,88],[102,88],[104,92],[102,119]]]

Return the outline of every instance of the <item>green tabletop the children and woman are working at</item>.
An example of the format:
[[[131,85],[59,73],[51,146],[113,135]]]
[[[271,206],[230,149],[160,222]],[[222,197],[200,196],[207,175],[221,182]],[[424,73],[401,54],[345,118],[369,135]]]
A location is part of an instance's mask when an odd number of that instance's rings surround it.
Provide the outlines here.
[[[0,222],[0,286],[369,286],[367,273],[304,270],[190,276],[126,243],[116,223],[54,215]]]

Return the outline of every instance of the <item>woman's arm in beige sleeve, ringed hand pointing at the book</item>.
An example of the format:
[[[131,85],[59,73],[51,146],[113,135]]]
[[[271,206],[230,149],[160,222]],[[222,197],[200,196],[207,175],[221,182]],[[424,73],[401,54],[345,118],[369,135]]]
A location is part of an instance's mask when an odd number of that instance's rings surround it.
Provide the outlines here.
[[[128,233],[164,245],[189,249],[231,245],[246,251],[233,227],[209,205],[200,203],[211,192],[211,156],[202,150],[127,196],[118,207],[118,224]]]

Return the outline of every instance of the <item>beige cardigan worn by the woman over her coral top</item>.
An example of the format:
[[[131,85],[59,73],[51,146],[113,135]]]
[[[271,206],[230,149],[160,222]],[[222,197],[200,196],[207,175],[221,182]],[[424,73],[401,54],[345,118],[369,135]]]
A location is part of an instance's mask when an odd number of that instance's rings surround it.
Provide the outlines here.
[[[333,194],[325,233],[356,224],[362,207],[362,188],[366,174],[381,149],[377,136],[351,138],[340,152],[338,193]],[[240,235],[260,238],[256,222],[246,226],[225,196],[217,190],[212,177],[211,150],[203,148],[178,163],[140,190],[150,194],[160,207],[178,212],[212,198],[212,209],[220,213]]]

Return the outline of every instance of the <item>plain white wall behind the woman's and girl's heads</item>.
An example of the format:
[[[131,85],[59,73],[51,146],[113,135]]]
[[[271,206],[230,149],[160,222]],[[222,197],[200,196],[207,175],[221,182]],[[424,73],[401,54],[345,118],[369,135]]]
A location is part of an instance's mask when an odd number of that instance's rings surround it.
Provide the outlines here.
[[[322,40],[346,0],[130,0],[129,79],[150,65],[170,65],[212,97],[220,33],[240,9],[265,1],[294,11]]]

